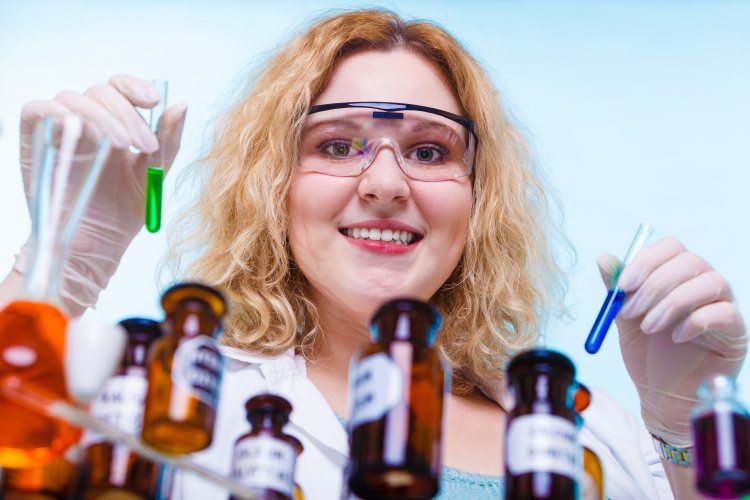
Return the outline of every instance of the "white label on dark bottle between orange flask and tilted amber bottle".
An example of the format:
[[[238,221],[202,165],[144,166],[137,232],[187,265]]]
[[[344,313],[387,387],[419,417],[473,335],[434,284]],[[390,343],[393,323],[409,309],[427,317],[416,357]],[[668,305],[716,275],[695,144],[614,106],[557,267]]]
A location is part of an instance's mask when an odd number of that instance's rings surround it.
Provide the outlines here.
[[[89,412],[97,420],[137,436],[143,425],[143,405],[148,381],[139,375],[117,375],[110,377],[91,403]],[[104,438],[94,432],[86,432],[82,443],[89,446]]]

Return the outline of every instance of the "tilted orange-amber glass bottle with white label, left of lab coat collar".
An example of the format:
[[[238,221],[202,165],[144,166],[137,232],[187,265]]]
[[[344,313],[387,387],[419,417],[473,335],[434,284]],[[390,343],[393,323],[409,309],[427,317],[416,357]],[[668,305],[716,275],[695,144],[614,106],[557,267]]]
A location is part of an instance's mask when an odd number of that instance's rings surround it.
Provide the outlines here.
[[[205,285],[186,283],[162,297],[165,337],[148,361],[142,439],[167,453],[191,453],[211,444],[223,360],[214,336],[226,303]]]

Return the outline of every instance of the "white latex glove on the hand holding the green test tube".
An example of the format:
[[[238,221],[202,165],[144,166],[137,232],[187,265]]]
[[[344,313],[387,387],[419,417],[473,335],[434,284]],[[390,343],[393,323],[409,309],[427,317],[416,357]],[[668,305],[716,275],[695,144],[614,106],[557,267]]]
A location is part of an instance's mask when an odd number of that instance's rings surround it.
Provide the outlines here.
[[[63,270],[60,296],[73,316],[96,303],[99,292],[107,286],[120,258],[143,226],[146,169],[150,166],[149,154],[159,150],[159,142],[135,107],[151,108],[158,102],[159,94],[151,82],[117,75],[83,94],[63,91],[49,101],[29,102],[21,112],[21,171],[27,201],[31,189],[32,133],[40,119],[51,117],[59,121],[72,113],[83,121],[84,132],[76,148],[74,169],[76,164],[91,163],[103,136],[112,144]],[[165,170],[180,147],[186,112],[186,105],[176,104],[160,120]],[[131,152],[130,146],[141,153]],[[70,205],[66,201],[66,206]],[[30,252],[27,241],[16,256],[13,268],[21,274],[28,271]]]

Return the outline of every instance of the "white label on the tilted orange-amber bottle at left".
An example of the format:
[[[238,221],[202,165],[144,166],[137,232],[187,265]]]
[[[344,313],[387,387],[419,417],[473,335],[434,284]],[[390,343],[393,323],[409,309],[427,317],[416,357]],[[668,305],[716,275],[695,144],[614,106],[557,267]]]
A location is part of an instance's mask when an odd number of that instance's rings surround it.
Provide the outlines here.
[[[213,338],[205,335],[183,340],[172,360],[172,382],[216,408],[222,356]]]

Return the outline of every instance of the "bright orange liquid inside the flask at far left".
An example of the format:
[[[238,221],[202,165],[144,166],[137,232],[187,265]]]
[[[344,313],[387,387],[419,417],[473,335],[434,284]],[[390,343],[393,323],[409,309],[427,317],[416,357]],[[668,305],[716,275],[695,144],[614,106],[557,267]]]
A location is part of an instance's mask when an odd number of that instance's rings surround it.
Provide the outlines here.
[[[44,302],[15,301],[0,311],[0,379],[18,377],[47,396],[70,401],[63,354],[66,316]],[[63,455],[81,431],[0,394],[0,466],[33,467]]]

